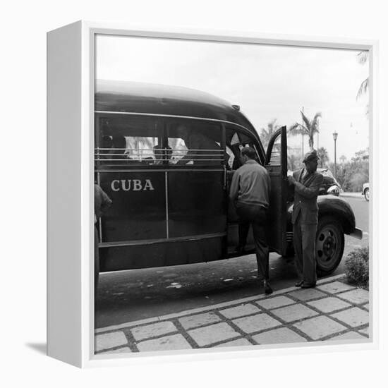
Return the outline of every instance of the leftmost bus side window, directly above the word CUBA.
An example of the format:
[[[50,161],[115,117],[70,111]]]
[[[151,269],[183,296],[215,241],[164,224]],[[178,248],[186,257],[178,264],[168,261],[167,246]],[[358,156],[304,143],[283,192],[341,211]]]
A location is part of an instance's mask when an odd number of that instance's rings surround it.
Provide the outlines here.
[[[162,144],[162,122],[146,116],[108,116],[96,120],[97,166],[125,168],[157,164]]]

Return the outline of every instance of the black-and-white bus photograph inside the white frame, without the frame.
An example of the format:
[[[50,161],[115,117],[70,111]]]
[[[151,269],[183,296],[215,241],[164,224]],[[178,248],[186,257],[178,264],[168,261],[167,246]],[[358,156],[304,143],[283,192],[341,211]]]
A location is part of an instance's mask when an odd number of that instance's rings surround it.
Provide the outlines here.
[[[96,35],[96,356],[372,339],[369,62]]]

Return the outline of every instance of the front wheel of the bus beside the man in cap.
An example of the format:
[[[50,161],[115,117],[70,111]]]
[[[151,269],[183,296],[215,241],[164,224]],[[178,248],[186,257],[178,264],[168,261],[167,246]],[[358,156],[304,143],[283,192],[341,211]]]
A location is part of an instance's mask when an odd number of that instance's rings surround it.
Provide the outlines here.
[[[318,276],[334,272],[344,253],[344,231],[341,224],[332,217],[322,217],[318,222],[315,240]]]

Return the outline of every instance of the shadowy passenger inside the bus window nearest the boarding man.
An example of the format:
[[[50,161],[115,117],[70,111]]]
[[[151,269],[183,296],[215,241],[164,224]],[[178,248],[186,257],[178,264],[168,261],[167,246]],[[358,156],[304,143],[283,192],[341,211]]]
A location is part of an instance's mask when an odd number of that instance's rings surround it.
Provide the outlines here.
[[[192,131],[188,126],[179,124],[176,134],[183,139],[188,152],[178,160],[177,165],[192,162],[198,164],[222,164],[223,152],[219,144],[198,131]]]

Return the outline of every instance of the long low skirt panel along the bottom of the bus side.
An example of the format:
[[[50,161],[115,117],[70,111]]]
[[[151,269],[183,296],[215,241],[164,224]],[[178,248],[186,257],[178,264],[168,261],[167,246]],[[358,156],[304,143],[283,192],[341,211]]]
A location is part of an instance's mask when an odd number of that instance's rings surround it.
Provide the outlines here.
[[[224,258],[226,237],[100,248],[100,271],[192,264]]]

